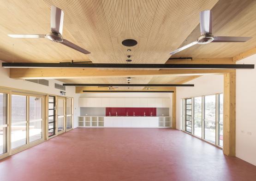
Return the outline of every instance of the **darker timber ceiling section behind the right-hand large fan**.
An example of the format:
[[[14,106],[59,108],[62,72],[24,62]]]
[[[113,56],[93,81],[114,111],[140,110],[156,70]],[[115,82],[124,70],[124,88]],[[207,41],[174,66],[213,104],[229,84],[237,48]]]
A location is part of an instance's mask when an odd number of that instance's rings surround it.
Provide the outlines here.
[[[244,43],[195,45],[172,57],[235,57],[256,46],[256,0],[219,0],[213,7],[214,36],[250,36]],[[187,45],[200,36],[199,25],[183,42]]]

